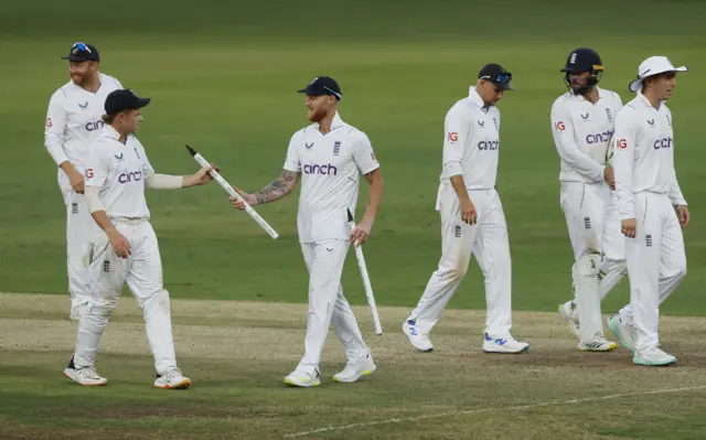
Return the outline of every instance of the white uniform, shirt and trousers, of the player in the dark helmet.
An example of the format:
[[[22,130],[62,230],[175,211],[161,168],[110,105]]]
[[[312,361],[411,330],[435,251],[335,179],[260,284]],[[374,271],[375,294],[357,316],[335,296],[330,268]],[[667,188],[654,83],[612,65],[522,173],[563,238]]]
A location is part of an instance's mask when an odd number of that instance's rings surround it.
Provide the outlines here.
[[[596,90],[596,104],[581,95],[565,93],[554,101],[550,114],[552,133],[560,158],[559,203],[574,248],[571,278],[581,322],[580,339],[586,343],[597,332],[602,334],[600,301],[622,278],[621,272],[611,272],[624,259],[614,197],[605,181],[614,118],[622,101],[614,92],[600,87]],[[584,261],[585,258],[590,261]],[[588,271],[584,268],[587,264],[590,264]],[[610,276],[606,278],[606,273]],[[592,285],[584,282],[582,275],[591,275]]]

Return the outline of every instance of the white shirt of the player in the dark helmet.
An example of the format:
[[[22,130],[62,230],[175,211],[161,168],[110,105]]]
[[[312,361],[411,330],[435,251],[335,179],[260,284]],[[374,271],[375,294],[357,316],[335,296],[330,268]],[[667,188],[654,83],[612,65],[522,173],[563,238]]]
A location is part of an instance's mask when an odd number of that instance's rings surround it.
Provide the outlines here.
[[[596,89],[596,104],[567,92],[552,106],[552,135],[561,159],[561,182],[603,181],[606,153],[622,101],[614,92]]]

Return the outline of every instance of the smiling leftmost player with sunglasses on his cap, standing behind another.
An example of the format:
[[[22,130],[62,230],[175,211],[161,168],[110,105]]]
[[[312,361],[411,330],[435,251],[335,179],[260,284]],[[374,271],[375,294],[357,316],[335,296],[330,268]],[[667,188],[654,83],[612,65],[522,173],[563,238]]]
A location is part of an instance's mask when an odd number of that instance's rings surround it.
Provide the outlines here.
[[[62,60],[68,60],[71,81],[52,95],[44,146],[58,167],[58,187],[66,205],[69,318],[78,320],[90,298],[86,251],[88,238],[97,232],[83,195],[85,160],[88,144],[104,125],[100,117],[106,96],[122,86],[99,72],[100,55],[94,45],[75,43]]]

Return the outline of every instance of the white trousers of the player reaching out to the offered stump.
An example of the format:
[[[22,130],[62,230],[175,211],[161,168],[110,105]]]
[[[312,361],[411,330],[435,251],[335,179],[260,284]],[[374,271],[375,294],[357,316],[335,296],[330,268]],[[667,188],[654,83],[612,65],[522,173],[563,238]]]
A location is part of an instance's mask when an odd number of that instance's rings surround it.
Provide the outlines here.
[[[120,292],[127,282],[138,301],[146,324],[147,341],[154,356],[157,373],[176,367],[169,292],[162,283],[162,261],[157,236],[146,219],[114,219],[118,232],[130,243],[131,255],[120,258],[115,254],[105,233],[90,242],[92,292],[89,311],[81,318],[74,363],[89,366],[95,363],[100,337],[110,313],[118,305]]]

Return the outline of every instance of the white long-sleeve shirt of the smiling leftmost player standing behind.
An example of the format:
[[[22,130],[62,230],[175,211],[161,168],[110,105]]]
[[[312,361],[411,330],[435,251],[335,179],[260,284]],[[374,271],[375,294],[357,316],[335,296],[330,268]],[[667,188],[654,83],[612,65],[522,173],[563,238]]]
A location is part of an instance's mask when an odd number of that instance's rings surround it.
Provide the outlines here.
[[[57,165],[69,161],[83,173],[88,144],[98,137],[104,122],[105,101],[110,92],[122,88],[120,82],[98,73],[100,87],[90,93],[72,81],[60,87],[49,103],[44,126],[44,146]]]

